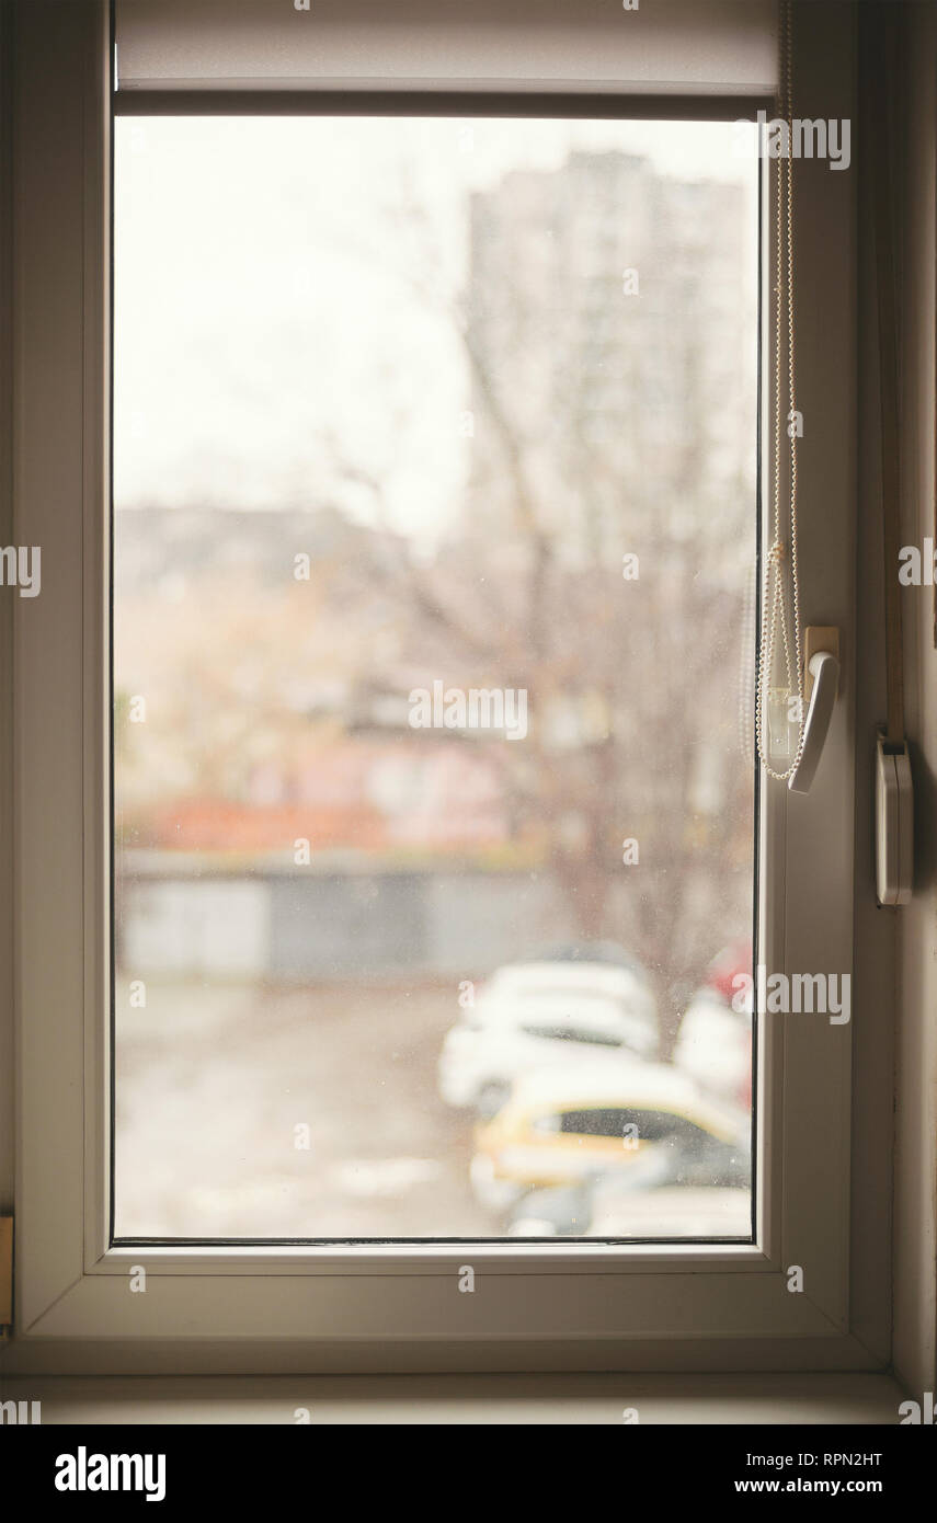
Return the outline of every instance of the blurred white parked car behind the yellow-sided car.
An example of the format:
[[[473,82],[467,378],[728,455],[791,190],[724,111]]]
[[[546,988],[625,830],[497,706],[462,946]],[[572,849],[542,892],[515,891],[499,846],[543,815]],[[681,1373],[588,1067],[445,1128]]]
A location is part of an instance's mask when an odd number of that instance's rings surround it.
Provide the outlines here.
[[[612,964],[518,963],[498,969],[446,1034],[439,1092],[449,1106],[492,1116],[518,1078],[657,1049],[654,998],[640,973]]]

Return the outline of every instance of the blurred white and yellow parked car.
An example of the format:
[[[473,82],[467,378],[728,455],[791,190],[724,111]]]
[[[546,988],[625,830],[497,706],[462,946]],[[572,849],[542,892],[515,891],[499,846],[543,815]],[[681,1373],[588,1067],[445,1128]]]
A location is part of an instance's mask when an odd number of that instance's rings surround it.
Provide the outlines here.
[[[527,1191],[588,1183],[609,1171],[635,1186],[748,1177],[750,1118],[708,1100],[672,1065],[640,1058],[547,1069],[518,1080],[475,1129],[471,1180],[489,1209]]]

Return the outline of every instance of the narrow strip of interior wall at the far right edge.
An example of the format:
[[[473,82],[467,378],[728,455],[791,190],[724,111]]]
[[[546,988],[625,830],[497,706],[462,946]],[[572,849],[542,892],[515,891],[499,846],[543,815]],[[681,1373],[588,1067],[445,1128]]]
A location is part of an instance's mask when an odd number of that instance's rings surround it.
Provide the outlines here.
[[[937,6],[903,8],[900,192],[902,545],[934,541]],[[897,574],[897,568],[896,568]],[[937,649],[934,586],[902,588],[905,725],[914,777],[914,897],[899,921],[894,1368],[937,1389]],[[882,914],[891,914],[884,911]]]

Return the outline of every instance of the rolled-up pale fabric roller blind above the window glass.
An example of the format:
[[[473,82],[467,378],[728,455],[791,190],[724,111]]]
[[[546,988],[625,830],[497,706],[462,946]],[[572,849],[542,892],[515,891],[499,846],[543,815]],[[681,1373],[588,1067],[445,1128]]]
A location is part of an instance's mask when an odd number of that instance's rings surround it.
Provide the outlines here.
[[[771,96],[774,0],[117,0],[142,90],[591,90]]]

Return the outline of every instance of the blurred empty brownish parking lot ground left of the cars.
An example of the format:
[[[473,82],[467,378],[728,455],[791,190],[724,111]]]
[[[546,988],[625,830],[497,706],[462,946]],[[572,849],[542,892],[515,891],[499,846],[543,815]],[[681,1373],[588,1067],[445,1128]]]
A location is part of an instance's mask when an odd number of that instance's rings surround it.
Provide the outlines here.
[[[453,985],[148,981],[131,1008],[120,984],[119,1235],[497,1232],[468,1185],[471,1118],[436,1092],[457,1013]]]

